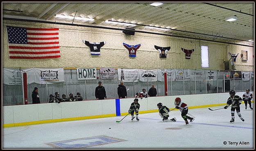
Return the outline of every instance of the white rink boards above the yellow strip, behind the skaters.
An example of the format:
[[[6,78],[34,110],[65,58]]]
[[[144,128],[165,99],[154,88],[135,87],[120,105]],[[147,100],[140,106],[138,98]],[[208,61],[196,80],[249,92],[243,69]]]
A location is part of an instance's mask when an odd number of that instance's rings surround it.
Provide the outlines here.
[[[242,97],[244,92],[237,92],[236,95]],[[254,95],[254,92],[251,92]],[[225,104],[229,93],[213,93],[200,95],[181,95],[166,97],[148,97],[140,99],[140,111],[156,110],[156,104],[161,102],[168,108],[174,108],[174,99],[180,97],[188,106],[201,106],[212,104]],[[121,113],[128,113],[134,98],[120,99]],[[33,122],[47,119],[65,119],[70,117],[84,117],[92,115],[116,114],[116,100],[93,100],[48,103],[48,104],[28,104],[18,106],[3,106],[3,124],[13,124],[20,122]]]

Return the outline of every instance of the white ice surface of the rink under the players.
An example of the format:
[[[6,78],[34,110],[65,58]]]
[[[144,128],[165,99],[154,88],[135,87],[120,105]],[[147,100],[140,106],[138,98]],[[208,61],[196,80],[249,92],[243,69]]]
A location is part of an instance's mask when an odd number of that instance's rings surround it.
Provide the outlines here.
[[[140,121],[107,117],[2,128],[3,149],[254,149],[254,109],[241,105],[242,122],[230,108],[189,109],[195,120],[185,125],[179,110],[162,122],[159,113],[139,114]],[[213,106],[211,109],[224,106]],[[254,103],[252,104],[254,108]],[[127,108],[128,111],[128,108]]]

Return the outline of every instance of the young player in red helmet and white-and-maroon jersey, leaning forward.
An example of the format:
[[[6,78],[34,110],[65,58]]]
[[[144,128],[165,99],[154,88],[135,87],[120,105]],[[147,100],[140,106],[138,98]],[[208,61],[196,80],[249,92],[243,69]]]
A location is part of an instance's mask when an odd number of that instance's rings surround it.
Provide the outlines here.
[[[181,101],[181,98],[176,97],[174,101],[175,108],[179,109],[181,111],[181,117],[184,119],[186,125],[188,124],[188,119],[190,119],[190,122],[193,122],[195,120],[195,117],[189,117],[188,114],[188,105]]]

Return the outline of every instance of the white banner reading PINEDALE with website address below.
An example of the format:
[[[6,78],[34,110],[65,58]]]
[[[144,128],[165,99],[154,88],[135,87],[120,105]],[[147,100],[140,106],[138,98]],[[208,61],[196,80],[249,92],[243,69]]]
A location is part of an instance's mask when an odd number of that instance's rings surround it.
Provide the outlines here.
[[[34,68],[35,82],[38,84],[52,84],[64,82],[63,68]]]

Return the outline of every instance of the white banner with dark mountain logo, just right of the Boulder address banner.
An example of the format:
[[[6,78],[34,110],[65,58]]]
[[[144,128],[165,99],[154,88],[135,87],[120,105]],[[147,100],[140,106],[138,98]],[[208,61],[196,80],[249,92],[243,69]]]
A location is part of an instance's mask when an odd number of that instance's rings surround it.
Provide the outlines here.
[[[157,81],[157,69],[154,70],[143,70],[139,69],[140,81]]]

